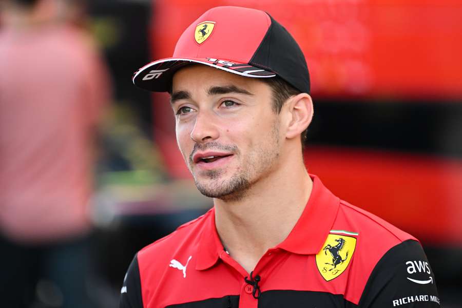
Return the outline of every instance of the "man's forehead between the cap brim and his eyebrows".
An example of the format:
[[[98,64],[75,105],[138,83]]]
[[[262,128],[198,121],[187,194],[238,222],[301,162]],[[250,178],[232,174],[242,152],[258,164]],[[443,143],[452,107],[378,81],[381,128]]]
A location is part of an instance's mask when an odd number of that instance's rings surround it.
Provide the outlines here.
[[[193,64],[174,74],[172,91],[194,92],[212,86],[225,85],[235,85],[252,93],[269,89],[269,86],[258,78],[244,77],[206,65]]]

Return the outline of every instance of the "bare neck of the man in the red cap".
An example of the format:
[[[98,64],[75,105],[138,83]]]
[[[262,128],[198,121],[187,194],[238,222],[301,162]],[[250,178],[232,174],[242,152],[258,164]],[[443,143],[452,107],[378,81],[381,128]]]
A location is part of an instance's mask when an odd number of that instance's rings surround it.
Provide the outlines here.
[[[252,185],[243,198],[214,199],[220,239],[247,272],[288,236],[310,197],[313,182],[303,160],[283,165]]]

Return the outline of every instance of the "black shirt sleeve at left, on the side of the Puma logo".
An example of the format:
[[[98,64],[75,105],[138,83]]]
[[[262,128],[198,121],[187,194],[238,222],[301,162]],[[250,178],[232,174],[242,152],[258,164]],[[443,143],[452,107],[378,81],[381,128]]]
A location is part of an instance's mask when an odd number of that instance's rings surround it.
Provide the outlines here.
[[[124,283],[120,291],[119,308],[143,308],[138,255],[134,256],[125,274]]]

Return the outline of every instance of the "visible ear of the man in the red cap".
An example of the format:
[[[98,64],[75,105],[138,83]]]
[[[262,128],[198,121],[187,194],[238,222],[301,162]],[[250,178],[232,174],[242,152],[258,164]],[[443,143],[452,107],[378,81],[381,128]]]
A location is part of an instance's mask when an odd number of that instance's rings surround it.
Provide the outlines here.
[[[286,102],[291,118],[288,123],[285,137],[293,139],[303,132],[313,119],[313,101],[307,93],[300,93]]]

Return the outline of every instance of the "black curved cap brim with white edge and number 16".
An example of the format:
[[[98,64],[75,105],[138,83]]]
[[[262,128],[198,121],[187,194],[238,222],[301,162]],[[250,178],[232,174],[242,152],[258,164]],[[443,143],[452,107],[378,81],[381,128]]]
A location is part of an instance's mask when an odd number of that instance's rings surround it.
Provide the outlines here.
[[[140,68],[133,76],[133,84],[154,92],[169,91],[175,72],[186,65],[195,63],[208,65],[245,77],[269,78],[276,76],[276,73],[272,71],[235,61],[217,60],[211,62],[209,58],[167,58],[151,62]]]

